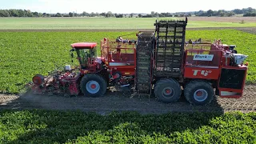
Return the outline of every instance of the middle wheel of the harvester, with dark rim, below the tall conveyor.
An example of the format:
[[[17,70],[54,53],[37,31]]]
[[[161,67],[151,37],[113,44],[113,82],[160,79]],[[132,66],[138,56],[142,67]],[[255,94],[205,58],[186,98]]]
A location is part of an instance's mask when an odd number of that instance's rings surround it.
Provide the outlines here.
[[[165,90],[170,90],[170,94],[167,94]],[[154,95],[160,102],[177,102],[181,94],[181,86],[174,79],[160,79],[154,86]]]

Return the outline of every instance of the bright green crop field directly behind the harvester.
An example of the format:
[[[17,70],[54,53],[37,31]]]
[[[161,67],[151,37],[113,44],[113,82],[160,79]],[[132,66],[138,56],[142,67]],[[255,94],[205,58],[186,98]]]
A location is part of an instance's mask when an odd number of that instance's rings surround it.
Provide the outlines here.
[[[0,32],[0,92],[17,94],[34,74],[48,71],[70,62],[73,42],[100,42],[104,37],[117,38],[132,32]],[[134,35],[135,38],[135,35]],[[187,30],[186,39],[221,38],[226,44],[237,45],[238,53],[248,54],[247,83],[256,82],[256,35],[238,30]]]

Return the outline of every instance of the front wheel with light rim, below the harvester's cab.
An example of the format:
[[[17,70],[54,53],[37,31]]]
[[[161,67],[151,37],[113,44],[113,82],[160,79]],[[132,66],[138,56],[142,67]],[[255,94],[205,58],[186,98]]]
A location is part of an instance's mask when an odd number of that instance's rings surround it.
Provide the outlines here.
[[[92,85],[96,88],[91,88]],[[106,80],[98,74],[86,74],[81,80],[80,89],[88,97],[102,97],[106,93]]]

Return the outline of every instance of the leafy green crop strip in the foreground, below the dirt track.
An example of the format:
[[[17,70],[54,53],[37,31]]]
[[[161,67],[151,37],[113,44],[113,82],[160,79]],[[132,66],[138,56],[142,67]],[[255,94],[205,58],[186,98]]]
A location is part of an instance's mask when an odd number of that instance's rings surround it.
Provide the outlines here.
[[[256,113],[0,111],[1,143],[255,143]]]

